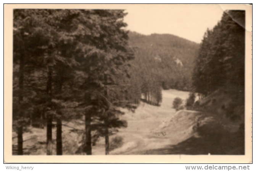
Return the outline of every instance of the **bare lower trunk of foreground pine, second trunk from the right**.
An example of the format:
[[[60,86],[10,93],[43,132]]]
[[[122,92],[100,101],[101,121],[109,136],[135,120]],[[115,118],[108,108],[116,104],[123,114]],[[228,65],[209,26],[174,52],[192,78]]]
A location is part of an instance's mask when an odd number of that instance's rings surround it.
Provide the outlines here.
[[[85,114],[85,152],[87,155],[92,155],[92,135],[91,135],[91,111]]]

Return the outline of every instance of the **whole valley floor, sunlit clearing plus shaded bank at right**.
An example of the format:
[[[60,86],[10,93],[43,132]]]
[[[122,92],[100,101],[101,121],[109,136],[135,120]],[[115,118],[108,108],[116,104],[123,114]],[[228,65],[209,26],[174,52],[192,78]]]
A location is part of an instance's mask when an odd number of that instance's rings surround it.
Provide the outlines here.
[[[163,91],[160,107],[142,104],[135,113],[127,112],[127,128],[117,135],[124,145],[110,154],[244,154],[243,136],[238,125],[219,123],[215,114],[172,109],[175,97],[188,97],[188,92]],[[224,127],[232,126],[232,130]]]

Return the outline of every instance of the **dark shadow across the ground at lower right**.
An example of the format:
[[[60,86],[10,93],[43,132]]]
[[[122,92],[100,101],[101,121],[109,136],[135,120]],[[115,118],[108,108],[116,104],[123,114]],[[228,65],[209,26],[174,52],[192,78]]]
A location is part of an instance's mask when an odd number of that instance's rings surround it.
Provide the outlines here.
[[[176,145],[169,145],[159,149],[136,152],[136,154],[164,155],[244,155],[244,134],[224,132],[192,136]]]

